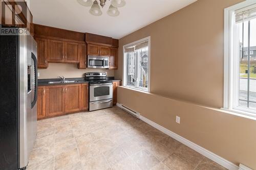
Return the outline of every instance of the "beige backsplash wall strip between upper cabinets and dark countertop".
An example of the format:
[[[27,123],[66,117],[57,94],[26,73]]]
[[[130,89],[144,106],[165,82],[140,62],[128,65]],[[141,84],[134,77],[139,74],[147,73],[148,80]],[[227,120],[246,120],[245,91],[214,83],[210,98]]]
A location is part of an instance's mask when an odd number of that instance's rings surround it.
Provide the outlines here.
[[[102,71],[107,72],[108,77],[114,76],[114,70],[108,69],[78,69],[77,64],[67,64],[67,63],[49,63],[47,69],[38,69],[40,77],[38,79],[54,79],[58,76],[65,76],[66,78],[82,78],[86,72],[96,72]]]

